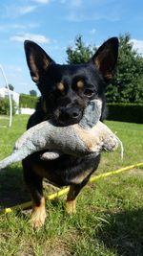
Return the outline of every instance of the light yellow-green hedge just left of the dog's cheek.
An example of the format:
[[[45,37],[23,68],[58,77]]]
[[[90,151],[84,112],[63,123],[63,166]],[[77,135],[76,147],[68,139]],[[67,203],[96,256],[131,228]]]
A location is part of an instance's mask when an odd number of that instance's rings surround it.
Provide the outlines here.
[[[37,101],[38,101],[38,98],[36,96],[20,94],[19,107],[35,108]]]

